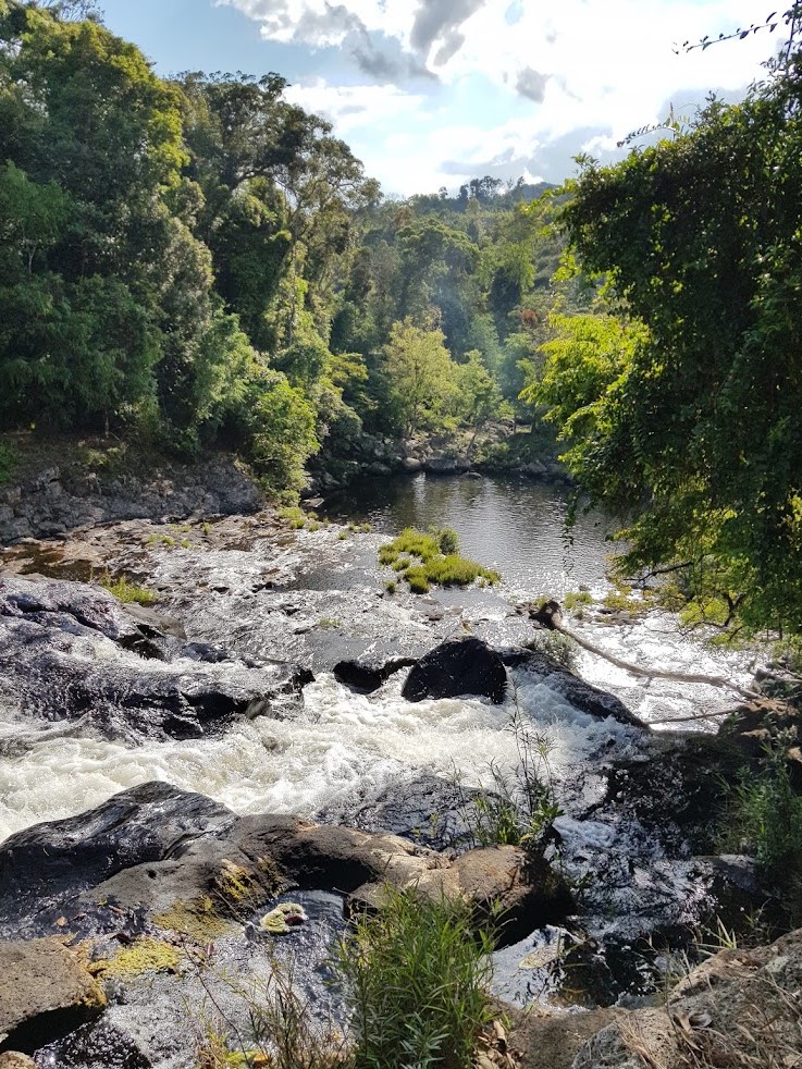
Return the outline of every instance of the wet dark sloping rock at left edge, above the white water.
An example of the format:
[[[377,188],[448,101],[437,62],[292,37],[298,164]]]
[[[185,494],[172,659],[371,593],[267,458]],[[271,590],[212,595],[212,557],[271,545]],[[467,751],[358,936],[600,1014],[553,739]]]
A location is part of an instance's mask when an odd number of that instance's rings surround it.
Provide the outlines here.
[[[32,722],[83,722],[106,738],[190,738],[276,715],[310,678],[176,639],[174,620],[70,581],[0,577],[0,701]]]

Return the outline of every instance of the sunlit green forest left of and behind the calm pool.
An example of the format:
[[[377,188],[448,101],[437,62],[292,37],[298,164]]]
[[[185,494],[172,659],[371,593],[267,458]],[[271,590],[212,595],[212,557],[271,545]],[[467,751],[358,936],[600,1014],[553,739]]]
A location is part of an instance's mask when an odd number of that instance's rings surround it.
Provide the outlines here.
[[[157,77],[90,4],[0,0],[0,419],[244,453],[526,415],[539,188],[384,200],[286,83]]]

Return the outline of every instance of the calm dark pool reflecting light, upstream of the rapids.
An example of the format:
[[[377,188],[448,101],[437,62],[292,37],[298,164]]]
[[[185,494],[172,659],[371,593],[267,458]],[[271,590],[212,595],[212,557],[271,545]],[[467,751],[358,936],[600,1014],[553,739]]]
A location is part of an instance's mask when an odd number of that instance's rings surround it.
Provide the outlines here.
[[[328,514],[370,523],[388,534],[447,524],[458,532],[466,556],[534,594],[603,587],[605,558],[615,548],[602,514],[580,515],[569,530],[565,488],[515,477],[362,479],[328,502]]]

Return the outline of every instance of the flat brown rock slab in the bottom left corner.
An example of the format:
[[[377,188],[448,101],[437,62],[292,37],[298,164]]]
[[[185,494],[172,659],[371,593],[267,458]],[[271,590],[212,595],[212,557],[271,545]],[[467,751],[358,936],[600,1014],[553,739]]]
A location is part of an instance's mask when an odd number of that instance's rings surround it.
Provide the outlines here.
[[[35,1050],[99,1013],[84,955],[59,939],[0,943],[0,1043]]]

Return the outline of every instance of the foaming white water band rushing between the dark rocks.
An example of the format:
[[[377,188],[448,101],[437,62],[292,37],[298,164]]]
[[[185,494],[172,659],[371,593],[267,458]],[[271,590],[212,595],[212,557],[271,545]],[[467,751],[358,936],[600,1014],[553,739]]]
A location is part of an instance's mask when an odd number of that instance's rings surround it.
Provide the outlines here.
[[[323,673],[305,689],[303,710],[238,723],[218,738],[135,748],[91,736],[35,744],[0,760],[0,839],[150,779],[210,795],[238,813],[312,815],[357,790],[378,792],[409,770],[477,785],[488,781],[491,759],[516,764],[513,699],[410,703],[400,697],[402,677],[374,695],[356,695]],[[568,776],[602,748],[609,757],[610,746],[624,754],[637,745],[631,729],[572,709],[526,673],[517,679],[515,700],[528,723],[547,734],[556,774]],[[0,738],[17,729],[0,724]]]

